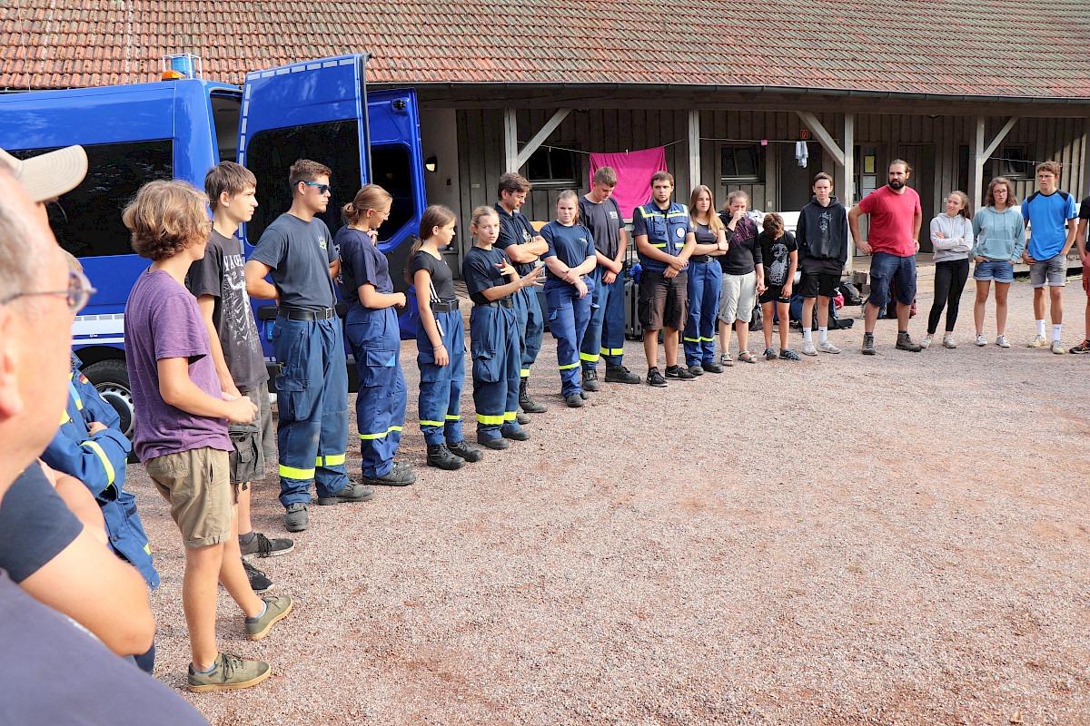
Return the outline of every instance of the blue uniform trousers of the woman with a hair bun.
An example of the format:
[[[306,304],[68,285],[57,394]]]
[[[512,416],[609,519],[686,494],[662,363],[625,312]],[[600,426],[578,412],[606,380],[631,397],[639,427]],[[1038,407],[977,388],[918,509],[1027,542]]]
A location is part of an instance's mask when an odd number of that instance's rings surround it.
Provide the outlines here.
[[[405,379],[401,372],[401,329],[392,307],[353,307],[344,319],[360,390],[355,422],[360,429],[363,476],[382,477],[393,468],[405,421]]]

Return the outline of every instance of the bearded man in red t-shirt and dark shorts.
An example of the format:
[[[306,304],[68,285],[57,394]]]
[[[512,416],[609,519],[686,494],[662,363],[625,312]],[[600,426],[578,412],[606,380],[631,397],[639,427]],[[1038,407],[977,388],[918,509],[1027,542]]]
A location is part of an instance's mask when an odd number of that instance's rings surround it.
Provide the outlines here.
[[[908,335],[908,317],[916,298],[916,253],[920,251],[920,224],[923,211],[920,195],[905,186],[912,168],[908,162],[889,162],[889,183],[867,195],[848,212],[851,237],[864,255],[871,257],[871,295],[867,298],[863,321],[863,355],[874,355],[874,323],[889,302],[889,281],[897,282],[897,347],[919,353],[920,346]],[[871,232],[863,242],[859,217],[870,214]]]

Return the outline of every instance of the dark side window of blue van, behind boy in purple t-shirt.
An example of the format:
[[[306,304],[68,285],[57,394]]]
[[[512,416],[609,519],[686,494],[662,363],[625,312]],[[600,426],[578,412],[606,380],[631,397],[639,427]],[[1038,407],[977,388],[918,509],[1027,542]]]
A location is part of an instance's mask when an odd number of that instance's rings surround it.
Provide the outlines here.
[[[76,257],[132,255],[131,235],[121,222],[121,211],[144,184],[173,179],[173,143],[162,139],[83,148],[87,151],[87,176],[60,201],[47,207],[53,235]],[[26,159],[52,150],[11,153]]]

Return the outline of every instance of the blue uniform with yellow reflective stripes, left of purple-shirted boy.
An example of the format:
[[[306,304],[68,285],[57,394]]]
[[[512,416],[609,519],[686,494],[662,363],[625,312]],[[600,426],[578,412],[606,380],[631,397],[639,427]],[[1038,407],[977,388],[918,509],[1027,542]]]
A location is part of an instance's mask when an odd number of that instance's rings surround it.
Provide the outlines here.
[[[90,435],[87,424],[92,421],[109,428]],[[41,459],[53,469],[75,477],[90,490],[102,509],[110,546],[132,563],[148,587],[155,589],[159,587],[159,575],[152,565],[152,549],[136,514],[136,497],[123,489],[132,444],[116,428],[120,422],[113,407],[102,401],[95,386],[73,365],[68,408],[60,430]]]

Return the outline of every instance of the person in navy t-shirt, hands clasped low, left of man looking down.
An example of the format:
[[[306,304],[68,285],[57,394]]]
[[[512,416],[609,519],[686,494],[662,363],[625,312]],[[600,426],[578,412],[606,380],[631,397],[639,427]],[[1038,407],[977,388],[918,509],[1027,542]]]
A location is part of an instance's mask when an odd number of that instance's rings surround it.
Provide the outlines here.
[[[556,221],[542,227],[542,236],[548,243],[542,259],[548,268],[545,297],[550,310],[548,329],[556,339],[560,395],[569,408],[578,408],[586,397],[579,374],[579,353],[591,321],[591,300],[594,298],[591,273],[598,258],[594,236],[579,223],[579,201],[574,192],[560,193],[556,200]]]

